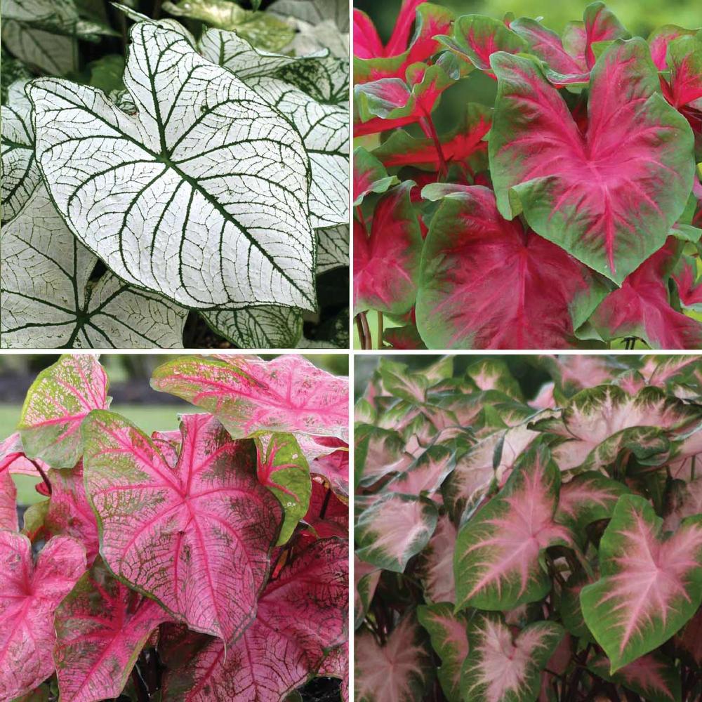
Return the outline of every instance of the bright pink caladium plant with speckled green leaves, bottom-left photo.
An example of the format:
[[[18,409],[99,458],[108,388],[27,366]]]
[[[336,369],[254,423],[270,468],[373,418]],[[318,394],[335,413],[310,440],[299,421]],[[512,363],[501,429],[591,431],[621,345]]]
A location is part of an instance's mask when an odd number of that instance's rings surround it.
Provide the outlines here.
[[[348,384],[284,360],[277,423],[255,392],[282,370],[232,356],[251,385],[226,425],[194,409],[151,436],[110,411],[98,357],[40,373],[0,443],[0,698],[283,702],[325,677],[347,699]],[[290,420],[305,384],[334,388],[333,420]],[[18,472],[44,496],[23,524]]]

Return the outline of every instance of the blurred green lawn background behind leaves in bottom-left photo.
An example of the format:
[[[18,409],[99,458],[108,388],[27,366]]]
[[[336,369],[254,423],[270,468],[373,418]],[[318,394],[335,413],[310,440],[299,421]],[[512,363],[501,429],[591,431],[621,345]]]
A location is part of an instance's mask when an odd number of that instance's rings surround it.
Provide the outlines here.
[[[265,359],[275,354],[262,355]],[[0,355],[0,439],[11,435],[20,420],[25,394],[39,371],[58,360],[54,354]],[[103,354],[100,362],[110,378],[110,409],[150,434],[155,430],[178,428],[178,414],[201,411],[192,404],[155,392],[149,385],[154,369],[173,358],[166,354]],[[347,354],[305,354],[305,358],[319,368],[336,375],[348,375]],[[17,485],[19,505],[31,505],[44,498],[34,485],[37,479],[27,475],[13,475]]]

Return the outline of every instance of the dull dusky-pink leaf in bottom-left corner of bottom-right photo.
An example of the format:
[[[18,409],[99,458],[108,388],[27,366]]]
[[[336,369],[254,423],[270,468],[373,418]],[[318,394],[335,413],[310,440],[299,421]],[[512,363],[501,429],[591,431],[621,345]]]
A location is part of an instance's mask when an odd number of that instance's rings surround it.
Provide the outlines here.
[[[421,702],[434,671],[428,642],[410,612],[384,646],[363,630],[355,639],[356,702]]]

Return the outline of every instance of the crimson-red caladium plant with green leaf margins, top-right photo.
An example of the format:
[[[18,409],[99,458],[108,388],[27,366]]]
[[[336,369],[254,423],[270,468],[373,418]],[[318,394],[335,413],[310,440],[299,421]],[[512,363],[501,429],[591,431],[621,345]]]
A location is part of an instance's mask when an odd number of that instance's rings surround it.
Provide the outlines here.
[[[385,46],[355,21],[362,348],[700,346],[702,29],[632,37],[601,1],[562,36],[429,2]]]

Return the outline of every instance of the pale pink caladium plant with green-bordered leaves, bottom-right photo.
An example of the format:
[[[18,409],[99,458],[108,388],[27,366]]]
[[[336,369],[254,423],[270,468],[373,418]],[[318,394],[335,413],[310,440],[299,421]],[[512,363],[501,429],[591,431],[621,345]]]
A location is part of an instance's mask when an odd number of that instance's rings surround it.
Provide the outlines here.
[[[368,361],[357,700],[696,700],[702,358]]]

